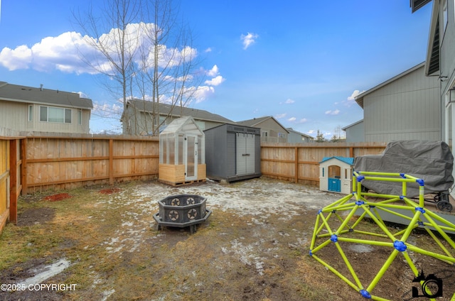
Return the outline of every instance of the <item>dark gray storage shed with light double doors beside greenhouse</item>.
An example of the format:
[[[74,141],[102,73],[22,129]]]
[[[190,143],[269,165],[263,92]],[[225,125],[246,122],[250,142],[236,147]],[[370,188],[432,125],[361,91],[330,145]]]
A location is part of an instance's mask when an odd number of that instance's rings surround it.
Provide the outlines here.
[[[222,124],[205,133],[207,177],[228,182],[261,176],[261,129]]]

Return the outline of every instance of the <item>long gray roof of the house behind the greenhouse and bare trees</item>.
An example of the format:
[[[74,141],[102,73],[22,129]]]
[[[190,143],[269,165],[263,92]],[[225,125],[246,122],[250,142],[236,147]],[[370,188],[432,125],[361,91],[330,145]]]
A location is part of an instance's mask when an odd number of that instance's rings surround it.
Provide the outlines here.
[[[144,111],[144,112],[153,112],[153,105],[154,102],[147,102],[143,100],[133,99],[128,101],[129,104],[132,104],[137,110]],[[210,113],[209,111],[204,111],[200,109],[193,109],[183,106],[172,106],[171,104],[164,104],[160,103],[159,105],[159,113],[161,115],[169,115],[173,117],[181,117],[181,116],[192,116],[193,119],[204,120],[204,121],[215,121],[220,123],[226,124],[235,124],[234,121],[227,119],[223,116],[218,114]]]

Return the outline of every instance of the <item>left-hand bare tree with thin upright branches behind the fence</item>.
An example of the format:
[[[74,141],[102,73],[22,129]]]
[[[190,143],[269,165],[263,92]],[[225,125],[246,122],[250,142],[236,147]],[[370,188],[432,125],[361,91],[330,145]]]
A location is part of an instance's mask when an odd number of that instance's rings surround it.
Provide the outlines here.
[[[118,97],[118,89],[127,109],[127,87],[134,75],[134,58],[139,48],[139,33],[134,24],[140,21],[140,0],[109,0],[95,13],[90,6],[86,13],[73,12],[77,26],[82,30],[92,52],[80,51],[81,59],[92,68],[93,73],[106,75],[104,82],[109,92]],[[114,82],[114,87],[112,86]],[[117,98],[117,99],[118,99]],[[129,123],[125,123],[131,133]]]

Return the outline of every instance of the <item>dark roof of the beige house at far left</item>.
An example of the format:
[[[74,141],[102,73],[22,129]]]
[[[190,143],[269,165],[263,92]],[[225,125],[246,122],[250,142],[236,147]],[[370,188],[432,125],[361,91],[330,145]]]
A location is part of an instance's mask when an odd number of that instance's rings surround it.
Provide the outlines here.
[[[0,82],[0,99],[7,102],[50,104],[77,109],[93,109],[92,99],[82,98],[78,93],[26,87]]]

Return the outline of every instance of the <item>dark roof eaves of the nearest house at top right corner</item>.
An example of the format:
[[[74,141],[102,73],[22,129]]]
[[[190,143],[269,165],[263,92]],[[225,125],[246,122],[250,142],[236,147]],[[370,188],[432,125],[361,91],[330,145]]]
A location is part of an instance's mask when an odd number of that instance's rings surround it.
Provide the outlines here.
[[[419,10],[432,0],[410,0],[412,13]],[[430,21],[427,45],[427,63],[425,75],[439,75],[439,1],[433,1],[432,18]]]

